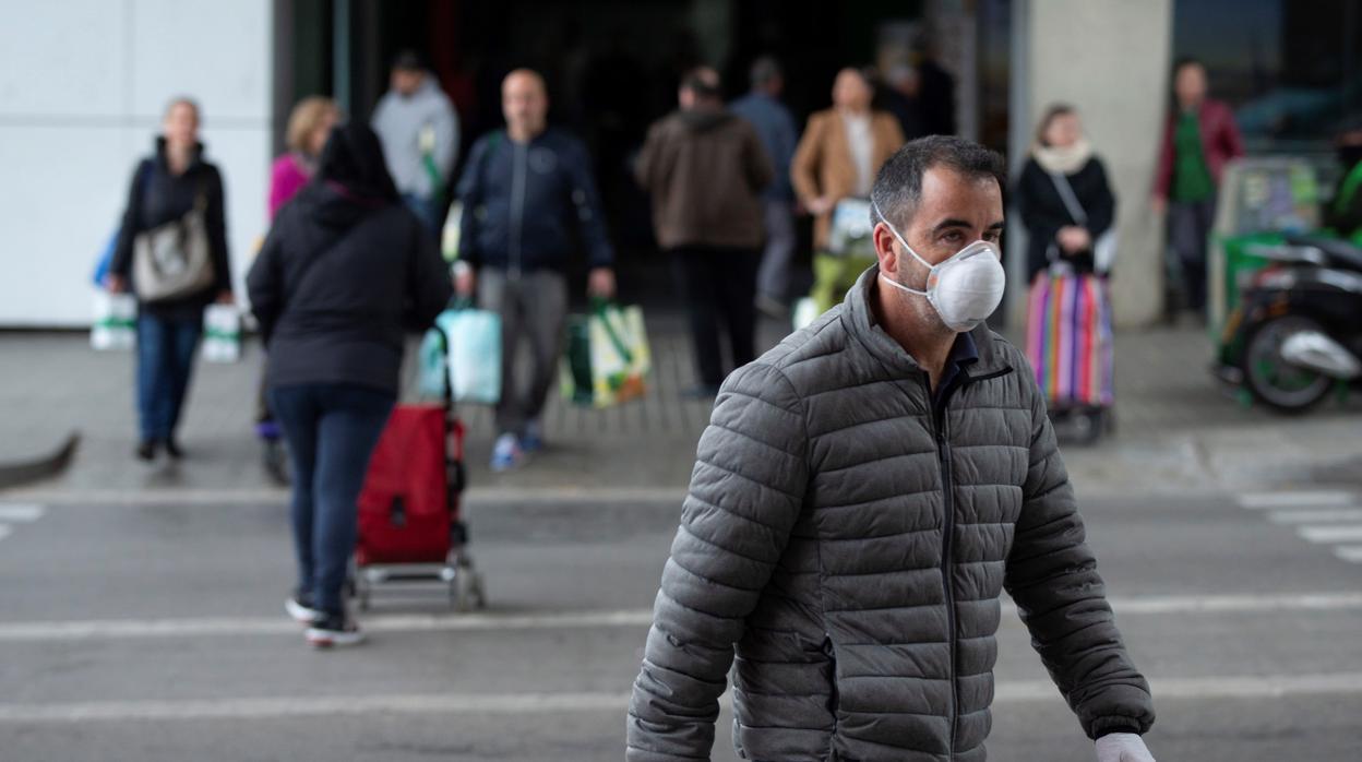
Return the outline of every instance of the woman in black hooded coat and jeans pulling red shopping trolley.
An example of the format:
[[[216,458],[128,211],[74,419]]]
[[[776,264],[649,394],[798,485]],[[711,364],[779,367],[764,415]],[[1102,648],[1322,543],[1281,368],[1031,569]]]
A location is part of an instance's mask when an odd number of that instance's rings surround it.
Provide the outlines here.
[[[298,588],[286,608],[313,645],[358,643],[342,597],[355,502],[396,401],[406,333],[433,323],[451,296],[434,240],[398,198],[372,129],[332,131],[247,285],[294,469]]]

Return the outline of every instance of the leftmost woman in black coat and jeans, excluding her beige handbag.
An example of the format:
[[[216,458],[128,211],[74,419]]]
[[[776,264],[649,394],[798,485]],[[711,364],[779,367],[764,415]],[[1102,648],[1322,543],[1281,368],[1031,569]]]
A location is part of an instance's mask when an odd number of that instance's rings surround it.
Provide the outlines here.
[[[184,219],[196,207],[203,213],[211,275],[192,293],[148,299],[147,284],[139,285],[133,275],[138,236]],[[203,158],[199,106],[188,98],[170,104],[155,154],[142,159],[133,170],[106,285],[114,293],[131,289],[138,294],[138,417],[142,431],[138,458],[150,461],[162,446],[172,458],[180,458],[184,453],[176,429],[189,390],[193,354],[203,335],[203,309],[214,300],[232,303],[222,176]]]

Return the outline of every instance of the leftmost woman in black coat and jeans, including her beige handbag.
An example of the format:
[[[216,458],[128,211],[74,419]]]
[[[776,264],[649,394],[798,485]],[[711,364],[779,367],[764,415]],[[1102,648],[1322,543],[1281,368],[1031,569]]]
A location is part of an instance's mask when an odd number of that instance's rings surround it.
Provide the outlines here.
[[[136,455],[172,458],[189,390],[203,309],[232,303],[222,174],[203,158],[199,106],[176,98],[166,108],[155,153],[138,164],[106,285],[138,297]]]

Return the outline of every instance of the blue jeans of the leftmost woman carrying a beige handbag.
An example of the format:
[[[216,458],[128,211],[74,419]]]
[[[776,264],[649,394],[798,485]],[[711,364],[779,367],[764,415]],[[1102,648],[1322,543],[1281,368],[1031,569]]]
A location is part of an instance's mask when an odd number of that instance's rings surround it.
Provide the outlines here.
[[[138,316],[138,417],[143,442],[174,436],[202,334],[202,318]]]

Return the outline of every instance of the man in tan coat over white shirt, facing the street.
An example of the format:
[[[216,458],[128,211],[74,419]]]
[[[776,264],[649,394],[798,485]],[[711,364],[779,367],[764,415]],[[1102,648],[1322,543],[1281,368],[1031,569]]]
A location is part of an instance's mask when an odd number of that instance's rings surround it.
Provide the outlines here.
[[[859,70],[838,72],[832,108],[809,117],[790,165],[794,192],[816,217],[813,297],[820,312],[840,301],[874,259],[828,252],[832,213],[843,199],[869,198],[880,166],[904,143],[893,115],[870,109],[873,95],[874,89]]]

